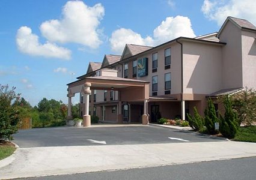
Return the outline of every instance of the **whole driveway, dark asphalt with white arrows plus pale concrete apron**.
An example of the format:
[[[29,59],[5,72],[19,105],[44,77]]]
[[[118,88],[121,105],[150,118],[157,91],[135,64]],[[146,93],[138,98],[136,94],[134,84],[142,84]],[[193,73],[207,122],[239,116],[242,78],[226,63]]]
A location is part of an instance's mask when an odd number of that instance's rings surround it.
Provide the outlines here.
[[[148,125],[22,130],[0,179],[123,170],[256,156],[256,144]]]

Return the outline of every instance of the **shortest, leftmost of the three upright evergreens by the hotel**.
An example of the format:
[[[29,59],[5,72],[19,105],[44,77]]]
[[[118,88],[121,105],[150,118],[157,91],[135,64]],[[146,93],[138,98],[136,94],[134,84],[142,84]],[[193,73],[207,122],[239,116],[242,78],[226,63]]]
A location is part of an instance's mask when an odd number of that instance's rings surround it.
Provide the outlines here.
[[[187,113],[187,118],[188,118],[190,127],[192,127],[194,130],[199,131],[203,129],[204,119],[198,113],[197,107],[194,107],[194,116],[191,116],[189,113]]]

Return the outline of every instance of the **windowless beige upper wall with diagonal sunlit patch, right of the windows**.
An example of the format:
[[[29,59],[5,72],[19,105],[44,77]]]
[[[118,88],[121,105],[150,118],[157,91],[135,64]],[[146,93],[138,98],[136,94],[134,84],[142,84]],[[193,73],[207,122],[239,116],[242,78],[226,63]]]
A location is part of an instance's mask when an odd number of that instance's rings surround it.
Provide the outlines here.
[[[183,41],[183,92],[210,94],[222,88],[221,46]]]

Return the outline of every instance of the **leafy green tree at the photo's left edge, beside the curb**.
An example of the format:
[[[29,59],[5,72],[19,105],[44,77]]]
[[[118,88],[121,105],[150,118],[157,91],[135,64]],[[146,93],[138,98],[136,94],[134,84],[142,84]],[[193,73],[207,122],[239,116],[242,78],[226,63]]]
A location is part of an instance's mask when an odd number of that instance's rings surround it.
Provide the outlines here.
[[[0,140],[12,140],[20,121],[18,106],[13,103],[19,100],[20,94],[16,94],[16,88],[8,88],[0,85]]]

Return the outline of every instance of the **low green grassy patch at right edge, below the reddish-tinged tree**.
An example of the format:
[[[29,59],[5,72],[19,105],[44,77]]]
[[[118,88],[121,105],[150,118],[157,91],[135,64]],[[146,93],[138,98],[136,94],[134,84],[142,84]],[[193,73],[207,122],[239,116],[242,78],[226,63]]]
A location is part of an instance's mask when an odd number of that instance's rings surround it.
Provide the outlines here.
[[[240,127],[233,140],[243,142],[256,142],[256,125]]]

